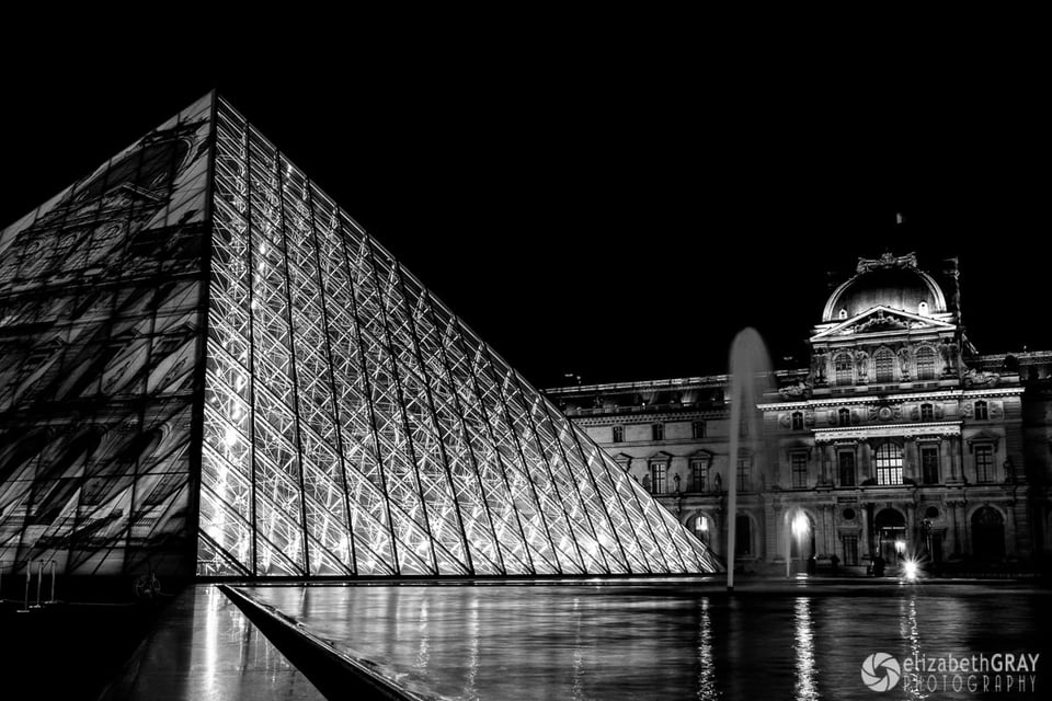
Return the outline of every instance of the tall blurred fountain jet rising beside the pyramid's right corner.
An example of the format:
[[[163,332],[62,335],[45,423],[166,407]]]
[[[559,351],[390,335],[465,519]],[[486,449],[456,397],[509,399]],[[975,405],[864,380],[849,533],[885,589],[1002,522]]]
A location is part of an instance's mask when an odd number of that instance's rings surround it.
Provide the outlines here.
[[[731,343],[731,449],[728,466],[728,528],[727,528],[727,590],[734,590],[734,548],[737,527],[737,461],[743,441],[755,452],[761,444],[762,430],[756,421],[755,409],[770,387],[770,358],[764,340],[752,326],[743,329]],[[744,422],[744,423],[743,423]]]

